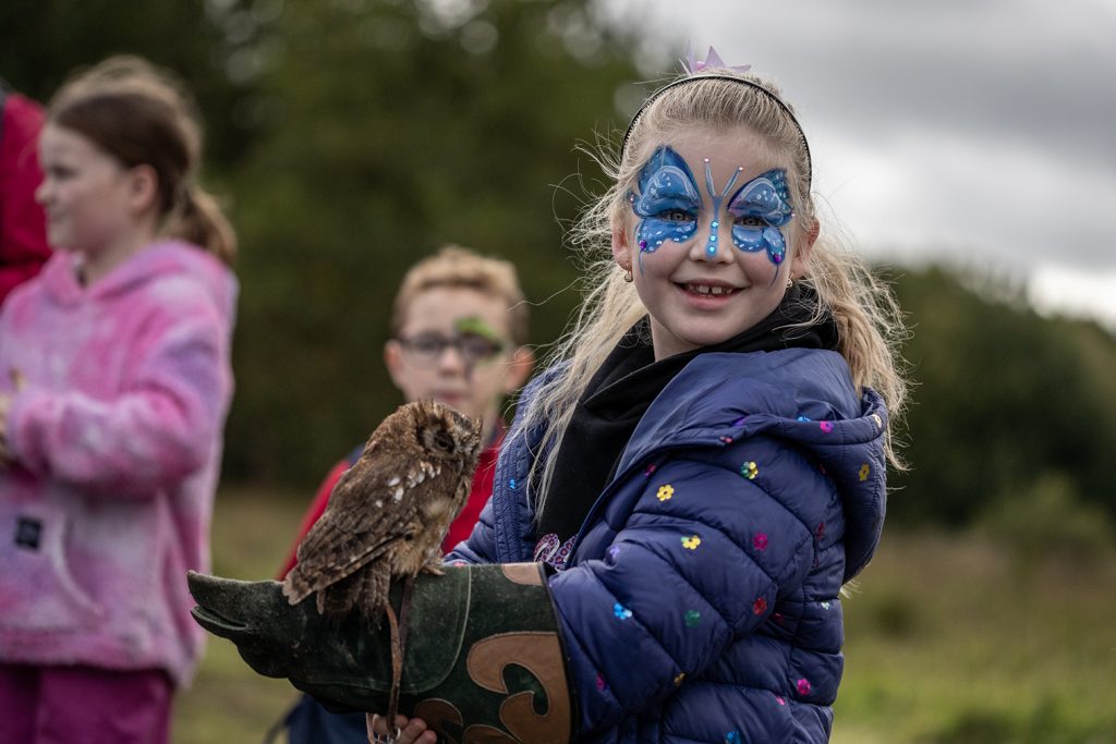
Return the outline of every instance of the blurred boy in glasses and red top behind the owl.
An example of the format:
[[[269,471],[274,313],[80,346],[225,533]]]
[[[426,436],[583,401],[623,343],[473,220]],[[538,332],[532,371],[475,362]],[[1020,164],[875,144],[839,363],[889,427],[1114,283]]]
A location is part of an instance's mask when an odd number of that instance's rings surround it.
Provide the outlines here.
[[[450,245],[412,267],[403,278],[392,315],[384,360],[407,400],[434,399],[481,419],[487,446],[472,491],[442,542],[448,552],[472,532],[492,493],[492,476],[504,423],[504,397],[530,375],[527,303],[511,263]],[[326,509],[337,481],[356,462],[362,442],[318,486],[302,518],[280,577],[297,562],[296,548]],[[363,714],[334,715],[304,696],[287,715],[291,744],[367,742]]]

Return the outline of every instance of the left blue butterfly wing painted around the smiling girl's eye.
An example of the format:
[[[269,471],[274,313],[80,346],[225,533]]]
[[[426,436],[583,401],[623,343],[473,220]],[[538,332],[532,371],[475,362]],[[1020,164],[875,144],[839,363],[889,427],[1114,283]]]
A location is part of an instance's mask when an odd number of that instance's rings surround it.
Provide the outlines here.
[[[683,243],[698,230],[701,194],[685,160],[665,145],[639,171],[639,193],[628,194],[632,211],[641,218],[635,240],[643,254],[654,253],[667,240]]]

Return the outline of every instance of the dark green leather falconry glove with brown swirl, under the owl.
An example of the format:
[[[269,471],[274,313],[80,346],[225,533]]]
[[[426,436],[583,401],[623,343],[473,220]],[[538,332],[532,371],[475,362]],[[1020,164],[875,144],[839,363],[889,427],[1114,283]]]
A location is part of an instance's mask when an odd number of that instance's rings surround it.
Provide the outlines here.
[[[575,699],[541,563],[444,566],[408,592],[398,711],[455,744],[562,744]],[[383,714],[393,693],[392,631],[359,609],[334,620],[314,601],[290,606],[278,581],[191,571],[192,612],[237,645],[257,673],[286,677],[334,712]],[[389,601],[400,608],[403,581]]]

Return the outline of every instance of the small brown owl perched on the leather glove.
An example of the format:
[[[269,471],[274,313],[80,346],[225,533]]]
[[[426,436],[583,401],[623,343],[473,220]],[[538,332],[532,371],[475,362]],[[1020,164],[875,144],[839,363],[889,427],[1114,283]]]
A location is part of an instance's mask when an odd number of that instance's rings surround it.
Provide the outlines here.
[[[480,423],[440,403],[408,403],[385,418],[299,543],[282,584],[287,601],[317,592],[318,612],[343,617],[358,607],[378,627],[392,579],[441,572],[440,545],[469,496],[480,450]]]

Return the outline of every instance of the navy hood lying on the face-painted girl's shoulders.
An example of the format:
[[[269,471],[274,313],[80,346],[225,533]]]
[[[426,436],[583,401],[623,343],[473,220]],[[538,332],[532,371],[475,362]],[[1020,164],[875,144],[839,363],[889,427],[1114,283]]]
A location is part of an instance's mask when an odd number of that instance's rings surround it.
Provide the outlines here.
[[[684,392],[684,394],[682,394]],[[886,511],[887,412],[858,396],[836,351],[703,354],[664,388],[636,427],[618,472],[653,451],[753,435],[789,441],[834,481],[845,506],[845,578],[867,564]]]

